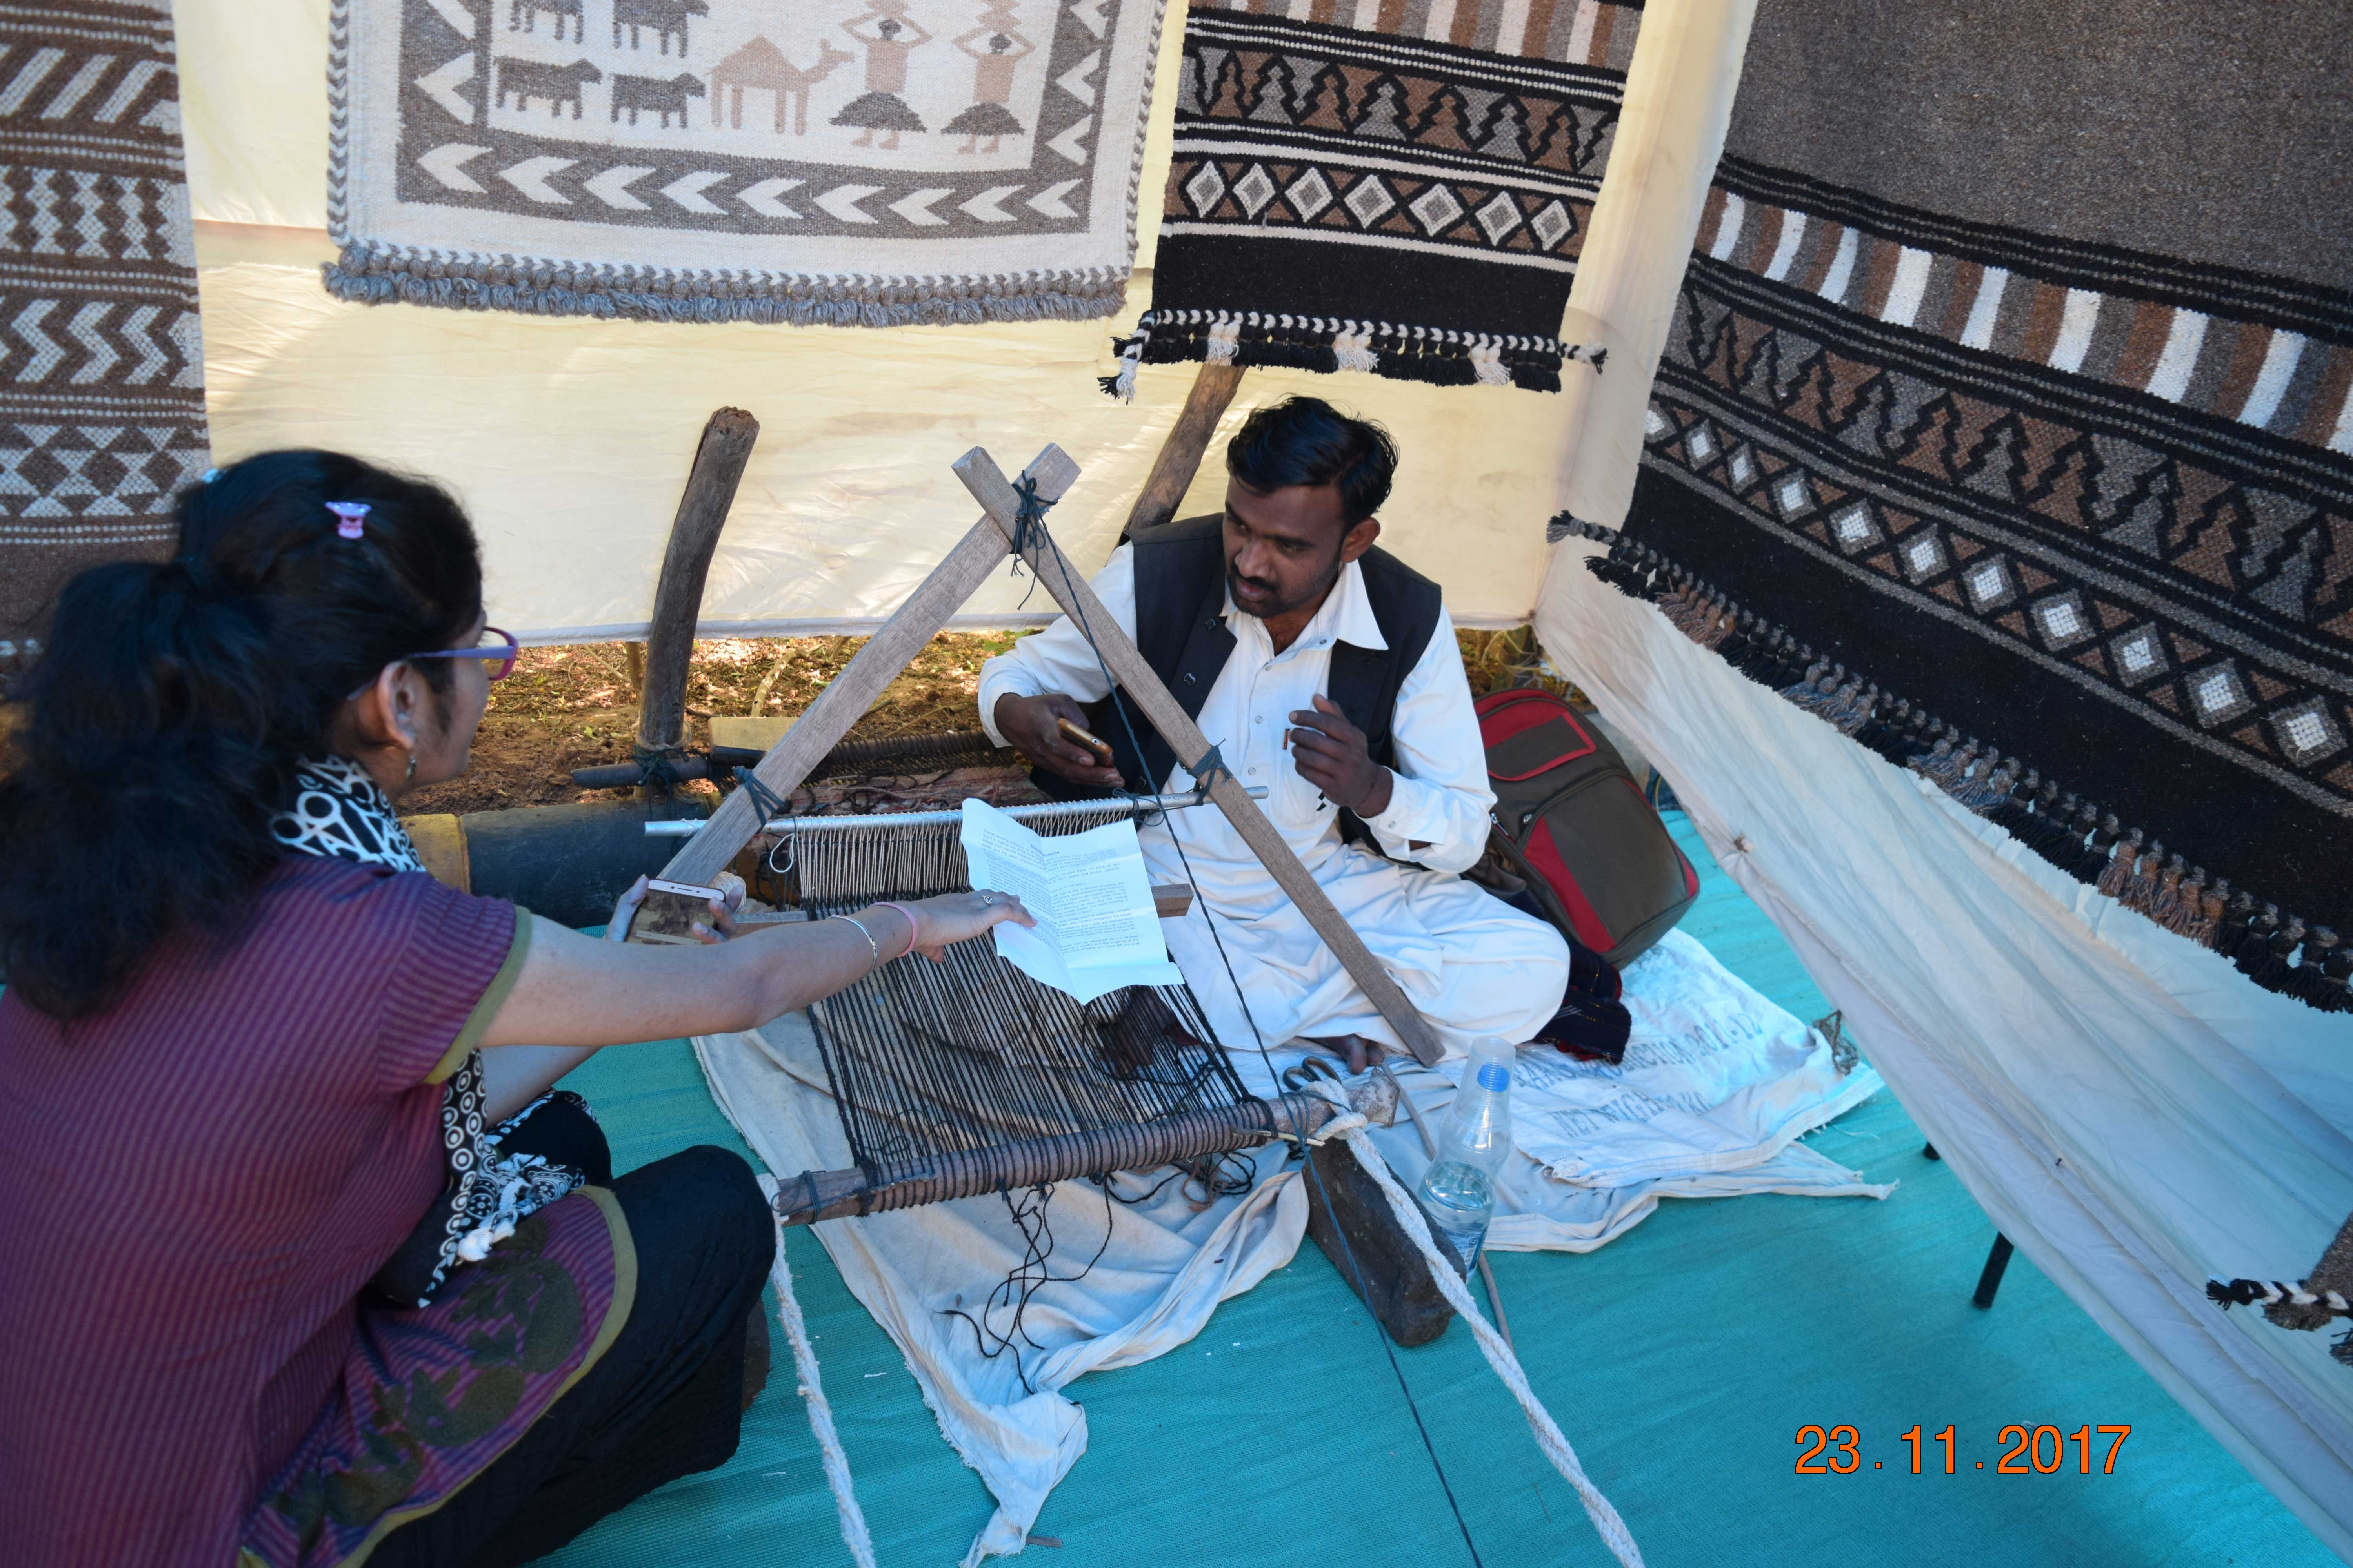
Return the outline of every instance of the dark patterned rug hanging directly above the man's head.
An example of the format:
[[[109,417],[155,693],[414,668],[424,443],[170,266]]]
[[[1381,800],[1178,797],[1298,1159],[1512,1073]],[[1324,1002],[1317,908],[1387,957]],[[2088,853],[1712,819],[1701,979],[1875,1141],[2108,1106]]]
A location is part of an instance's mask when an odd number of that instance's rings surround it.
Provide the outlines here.
[[[1195,0],[1136,362],[1560,390],[1638,5]]]

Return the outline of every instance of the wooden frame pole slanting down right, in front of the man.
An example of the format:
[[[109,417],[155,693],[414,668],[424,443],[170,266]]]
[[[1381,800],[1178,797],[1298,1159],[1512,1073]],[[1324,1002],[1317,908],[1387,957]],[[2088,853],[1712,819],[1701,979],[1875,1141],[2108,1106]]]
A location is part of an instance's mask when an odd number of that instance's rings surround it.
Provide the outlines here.
[[[1000,543],[1009,545],[1021,498],[1005,480],[1005,470],[1000,470],[984,449],[974,447],[955,461],[955,477],[960,477],[965,489],[972,491],[972,498],[986,508],[991,522],[1005,531]],[[1045,487],[1040,484],[1038,491],[1042,496]],[[1176,759],[1186,764],[1186,771],[1198,776],[1202,759],[1209,752],[1209,738],[1200,733],[1200,726],[1193,724],[1193,715],[1179,708],[1176,698],[1169,696],[1169,689],[1160,684],[1160,675],[1144,661],[1144,651],[1136,649],[1134,639],[1129,639],[1125,630],[1120,630],[1120,623],[1111,618],[1104,602],[1094,597],[1094,588],[1087,585],[1087,578],[1064,567],[1061,552],[1054,550],[1052,541],[1028,541],[1021,559],[1026,559],[1031,571],[1038,574],[1038,583],[1054,595],[1054,602],[1061,604],[1064,614],[1071,616],[1075,625],[1092,632],[1094,646],[1104,656],[1104,665],[1111,670],[1111,679],[1115,679],[1127,696],[1136,701],[1153,729],[1158,729],[1160,736],[1176,748]],[[807,724],[807,719],[802,719],[802,724]],[[793,733],[800,733],[800,724],[793,726]],[[1381,961],[1372,957],[1372,947],[1367,947],[1365,938],[1355,933],[1355,926],[1351,926],[1341,912],[1332,907],[1332,900],[1325,896],[1315,877],[1308,875],[1308,867],[1299,865],[1299,856],[1294,856],[1292,846],[1282,842],[1275,825],[1266,820],[1259,804],[1249,799],[1242,790],[1242,780],[1231,771],[1219,771],[1212,780],[1207,780],[1207,785],[1209,799],[1217,802],[1217,809],[1226,813],[1226,820],[1233,823],[1233,830],[1240,832],[1242,842],[1259,856],[1259,863],[1268,870],[1268,875],[1273,875],[1275,884],[1289,893],[1294,905],[1299,905],[1299,912],[1306,914],[1315,936],[1320,936],[1325,945],[1339,954],[1341,969],[1346,969],[1348,978],[1362,987],[1372,1006],[1388,1020],[1388,1027],[1393,1027],[1405,1041],[1405,1048],[1414,1053],[1414,1060],[1424,1067],[1435,1067],[1442,1051],[1438,1046],[1438,1037],[1431,1032],[1431,1025],[1419,1011],[1414,1011],[1414,1004],[1398,987],[1398,983],[1388,978]]]

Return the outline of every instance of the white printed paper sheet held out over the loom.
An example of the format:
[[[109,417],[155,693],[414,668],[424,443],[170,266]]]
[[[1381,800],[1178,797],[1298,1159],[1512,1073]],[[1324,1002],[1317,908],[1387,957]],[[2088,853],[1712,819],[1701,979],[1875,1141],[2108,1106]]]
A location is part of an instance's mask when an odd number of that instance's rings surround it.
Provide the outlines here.
[[[1042,839],[988,802],[965,802],[972,886],[1014,893],[1035,929],[998,926],[998,952],[1021,973],[1080,1001],[1122,985],[1179,985],[1144,875],[1136,825],[1104,823]]]

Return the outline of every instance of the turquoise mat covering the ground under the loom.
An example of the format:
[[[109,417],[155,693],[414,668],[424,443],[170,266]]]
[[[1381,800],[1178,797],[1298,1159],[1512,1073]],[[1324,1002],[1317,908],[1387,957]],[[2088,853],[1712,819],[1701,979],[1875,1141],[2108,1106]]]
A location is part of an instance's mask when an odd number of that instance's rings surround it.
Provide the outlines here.
[[[1680,813],[1701,867],[1682,929],[1800,1018],[1828,1004]],[[1868,1051],[1868,1041],[1866,1051]],[[569,1079],[628,1171],[694,1143],[746,1152],[685,1041],[607,1051]],[[2238,1460],[2024,1258],[1969,1305],[1993,1225],[1892,1095],[1809,1143],[1871,1199],[1673,1199],[1598,1253],[1497,1253],[1520,1361],[1652,1568],[2209,1568],[2332,1563]],[[748,1154],[748,1152],[746,1152]],[[991,1500],[939,1436],[899,1352],[824,1248],[788,1239],[826,1396],[882,1568],[946,1568]],[[772,1321],[774,1331],[774,1321]],[[1191,1345],[1068,1394],[1089,1446],[1038,1521],[1040,1568],[1452,1568],[1471,1563],[1374,1326],[1315,1246],[1217,1309]],[[776,1371],[722,1469],[631,1505],[558,1568],[842,1563],[833,1495]],[[1487,1568],[1609,1563],[1471,1335],[1400,1352]],[[1800,1476],[1807,1425],[1857,1429],[1854,1474]],[[1922,1436],[1922,1474],[1911,1446]],[[1953,1427],[1955,1474],[1934,1434]],[[2009,1425],[2129,1425],[2104,1474],[2000,1474]],[[1821,1460],[1835,1458],[1826,1450]],[[2049,1441],[2042,1441],[2049,1460]],[[1984,1462],[1984,1469],[1979,1469]]]

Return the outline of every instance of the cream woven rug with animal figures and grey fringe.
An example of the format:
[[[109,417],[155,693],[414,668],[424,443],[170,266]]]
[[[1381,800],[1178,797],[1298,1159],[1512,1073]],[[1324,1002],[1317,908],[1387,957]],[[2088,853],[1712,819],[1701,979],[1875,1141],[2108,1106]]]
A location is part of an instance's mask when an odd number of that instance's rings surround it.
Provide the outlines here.
[[[336,0],[327,287],[899,327],[1101,317],[1165,0]]]

